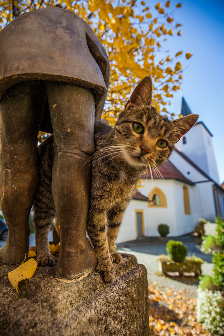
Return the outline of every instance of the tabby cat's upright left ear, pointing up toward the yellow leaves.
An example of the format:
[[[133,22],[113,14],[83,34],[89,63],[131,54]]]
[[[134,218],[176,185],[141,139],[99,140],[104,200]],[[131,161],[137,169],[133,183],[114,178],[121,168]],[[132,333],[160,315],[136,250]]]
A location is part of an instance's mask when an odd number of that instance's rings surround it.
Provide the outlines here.
[[[132,92],[131,97],[125,105],[125,109],[129,109],[132,106],[151,106],[152,104],[152,80],[149,76],[146,76],[136,86]]]

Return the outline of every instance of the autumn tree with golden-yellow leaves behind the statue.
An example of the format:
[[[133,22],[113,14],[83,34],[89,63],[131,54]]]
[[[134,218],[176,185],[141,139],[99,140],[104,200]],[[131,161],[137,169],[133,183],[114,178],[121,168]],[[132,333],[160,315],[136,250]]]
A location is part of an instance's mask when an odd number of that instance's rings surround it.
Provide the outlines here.
[[[167,37],[181,36],[181,24],[174,19],[181,3],[161,1],[150,9],[144,1],[135,0],[0,0],[0,29],[24,12],[57,3],[92,27],[109,56],[111,75],[104,118],[114,124],[131,91],[147,75],[153,79],[156,110],[169,113],[173,91],[180,89],[183,52],[167,53],[162,59],[159,55],[165,54]]]

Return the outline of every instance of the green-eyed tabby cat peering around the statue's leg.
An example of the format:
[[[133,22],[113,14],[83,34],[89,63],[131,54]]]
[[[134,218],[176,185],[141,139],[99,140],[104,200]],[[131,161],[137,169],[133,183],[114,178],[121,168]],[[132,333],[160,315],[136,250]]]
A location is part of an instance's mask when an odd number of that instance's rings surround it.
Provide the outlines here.
[[[145,77],[135,88],[115,127],[95,124],[96,153],[92,160],[91,191],[86,222],[87,233],[96,252],[97,271],[107,283],[115,280],[113,262],[124,212],[142,173],[164,163],[175,143],[195,124],[198,115],[168,120],[151,106],[152,81]],[[55,217],[51,194],[53,139],[39,148],[40,185],[34,202],[37,262],[54,264],[48,247],[48,231]],[[74,209],[75,211],[75,209]]]

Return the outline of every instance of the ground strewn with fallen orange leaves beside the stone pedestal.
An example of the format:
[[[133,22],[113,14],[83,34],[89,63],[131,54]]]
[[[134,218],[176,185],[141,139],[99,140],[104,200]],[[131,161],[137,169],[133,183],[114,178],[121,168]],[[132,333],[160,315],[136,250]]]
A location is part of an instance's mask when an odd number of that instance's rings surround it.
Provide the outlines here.
[[[196,321],[196,298],[190,298],[188,291],[168,288],[149,283],[149,325],[154,336],[211,336]]]

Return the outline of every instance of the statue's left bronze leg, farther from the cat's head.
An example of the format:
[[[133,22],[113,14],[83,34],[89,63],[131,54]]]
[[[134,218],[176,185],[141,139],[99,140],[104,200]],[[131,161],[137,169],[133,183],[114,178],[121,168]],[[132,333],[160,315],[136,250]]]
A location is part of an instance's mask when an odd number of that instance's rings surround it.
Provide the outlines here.
[[[13,85],[0,100],[0,207],[8,239],[0,261],[15,264],[29,250],[29,214],[38,185],[37,139],[41,104],[38,81]]]

